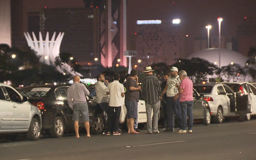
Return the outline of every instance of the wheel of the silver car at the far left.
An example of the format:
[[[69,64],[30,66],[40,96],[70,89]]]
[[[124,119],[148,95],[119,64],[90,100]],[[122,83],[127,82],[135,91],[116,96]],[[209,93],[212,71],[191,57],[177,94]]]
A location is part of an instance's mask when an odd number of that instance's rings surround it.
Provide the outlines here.
[[[30,141],[35,141],[39,139],[40,133],[40,122],[38,119],[33,118],[27,132],[27,137]]]

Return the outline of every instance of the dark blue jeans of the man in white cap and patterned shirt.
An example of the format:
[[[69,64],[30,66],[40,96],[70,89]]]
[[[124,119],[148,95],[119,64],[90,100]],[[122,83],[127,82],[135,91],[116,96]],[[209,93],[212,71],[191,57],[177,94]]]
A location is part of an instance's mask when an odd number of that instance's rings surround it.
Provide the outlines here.
[[[181,107],[180,107],[180,97],[176,101],[174,97],[167,97],[166,101],[166,115],[167,115],[167,125],[169,129],[174,128],[174,112],[177,116],[178,126],[181,128]]]

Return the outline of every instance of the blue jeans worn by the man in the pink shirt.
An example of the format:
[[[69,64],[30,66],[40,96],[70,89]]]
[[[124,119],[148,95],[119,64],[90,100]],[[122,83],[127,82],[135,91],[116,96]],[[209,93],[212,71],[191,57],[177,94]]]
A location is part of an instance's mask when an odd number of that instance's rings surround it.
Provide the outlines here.
[[[188,116],[188,130],[192,130],[193,128],[193,101],[184,101],[180,102],[181,104],[181,124],[182,130],[187,129],[187,116]]]

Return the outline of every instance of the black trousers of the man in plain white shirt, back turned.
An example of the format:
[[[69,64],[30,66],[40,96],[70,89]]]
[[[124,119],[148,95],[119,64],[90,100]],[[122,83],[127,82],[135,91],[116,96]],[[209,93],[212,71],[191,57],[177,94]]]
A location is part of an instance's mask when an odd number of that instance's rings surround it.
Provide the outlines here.
[[[120,113],[121,113],[121,106],[119,107],[108,106],[107,132],[111,132],[111,126],[114,126],[113,132],[117,131],[119,126]]]

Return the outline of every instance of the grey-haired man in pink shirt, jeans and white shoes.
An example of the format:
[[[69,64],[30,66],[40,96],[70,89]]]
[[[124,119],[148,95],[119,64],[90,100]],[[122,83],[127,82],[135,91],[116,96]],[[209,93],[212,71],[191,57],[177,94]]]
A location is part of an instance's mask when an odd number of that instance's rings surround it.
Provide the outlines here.
[[[177,100],[180,96],[181,105],[181,129],[178,133],[187,132],[187,115],[188,115],[188,132],[192,133],[193,128],[193,82],[187,77],[187,72],[181,70],[179,76],[182,79],[181,84],[176,84],[179,92],[174,96],[174,100]]]

